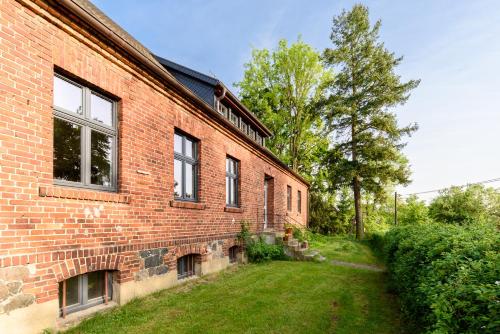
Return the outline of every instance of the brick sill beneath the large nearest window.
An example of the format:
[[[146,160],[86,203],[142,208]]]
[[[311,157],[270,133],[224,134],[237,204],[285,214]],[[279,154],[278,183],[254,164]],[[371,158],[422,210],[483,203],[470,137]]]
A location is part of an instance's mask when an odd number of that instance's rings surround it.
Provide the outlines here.
[[[130,203],[130,196],[98,190],[70,188],[61,186],[41,186],[38,188],[40,197],[79,199],[85,201]]]

